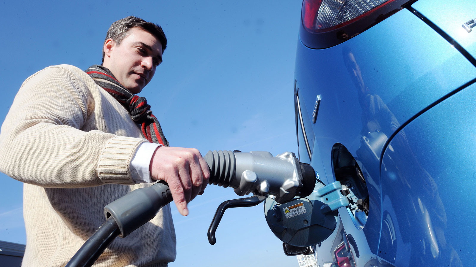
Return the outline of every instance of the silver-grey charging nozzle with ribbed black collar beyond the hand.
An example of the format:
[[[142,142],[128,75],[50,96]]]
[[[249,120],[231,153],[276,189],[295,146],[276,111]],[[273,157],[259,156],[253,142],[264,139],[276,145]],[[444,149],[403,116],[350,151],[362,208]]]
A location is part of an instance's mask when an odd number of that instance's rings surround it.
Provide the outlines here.
[[[208,183],[232,187],[239,196],[274,195],[282,203],[310,195],[316,183],[314,169],[290,152],[273,157],[269,152],[208,151],[203,158],[210,168]]]

